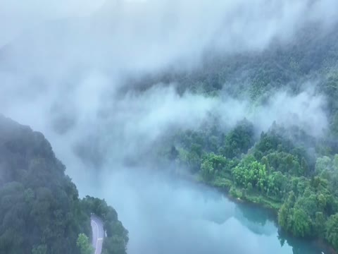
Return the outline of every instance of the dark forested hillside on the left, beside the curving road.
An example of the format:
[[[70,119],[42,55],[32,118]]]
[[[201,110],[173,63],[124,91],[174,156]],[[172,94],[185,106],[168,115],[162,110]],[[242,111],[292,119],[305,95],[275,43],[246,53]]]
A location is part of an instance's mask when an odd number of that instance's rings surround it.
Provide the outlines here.
[[[87,253],[77,238],[92,235],[91,212],[104,220],[104,253],[124,254],[127,230],[115,210],[81,200],[44,135],[0,116],[0,253]]]

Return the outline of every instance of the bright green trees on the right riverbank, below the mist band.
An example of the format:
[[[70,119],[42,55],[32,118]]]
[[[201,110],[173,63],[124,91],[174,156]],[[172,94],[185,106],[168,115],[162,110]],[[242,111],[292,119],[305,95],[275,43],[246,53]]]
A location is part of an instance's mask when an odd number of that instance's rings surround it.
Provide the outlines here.
[[[204,146],[208,133],[219,139],[213,142],[213,152]],[[293,236],[326,237],[333,244],[327,219],[338,212],[338,155],[315,160],[315,154],[304,148],[312,145],[315,150],[312,138],[299,128],[286,130],[276,123],[256,143],[246,120],[227,134],[200,131],[189,137],[183,143],[175,140],[180,147],[178,163],[233,198],[277,210],[278,224]],[[189,146],[190,141],[195,145]]]

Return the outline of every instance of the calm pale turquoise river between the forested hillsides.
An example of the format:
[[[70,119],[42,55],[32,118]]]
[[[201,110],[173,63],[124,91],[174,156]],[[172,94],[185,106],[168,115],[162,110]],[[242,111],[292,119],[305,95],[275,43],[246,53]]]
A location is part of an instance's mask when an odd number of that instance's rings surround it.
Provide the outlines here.
[[[101,179],[97,193],[130,231],[129,254],[320,254],[314,243],[282,236],[273,214],[213,188],[139,173]]]

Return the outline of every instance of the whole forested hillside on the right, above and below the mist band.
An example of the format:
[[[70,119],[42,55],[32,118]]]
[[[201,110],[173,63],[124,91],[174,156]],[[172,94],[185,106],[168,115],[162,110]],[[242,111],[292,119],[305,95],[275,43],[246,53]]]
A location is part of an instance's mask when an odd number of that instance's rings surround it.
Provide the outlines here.
[[[142,90],[148,89],[146,84],[174,82],[182,95],[244,99],[251,111],[269,107],[269,99],[279,92],[296,97],[311,90],[324,98],[327,124],[313,123],[325,126],[316,133],[292,114],[287,124],[275,121],[259,131],[245,118],[229,129],[220,114],[210,112],[202,126],[166,135],[164,147],[158,146],[159,158],[189,169],[199,181],[234,198],[272,208],[280,228],[293,236],[325,239],[338,250],[337,38],[338,28],[323,35],[309,27],[287,45],[208,59],[199,71],[144,78],[138,83]]]

